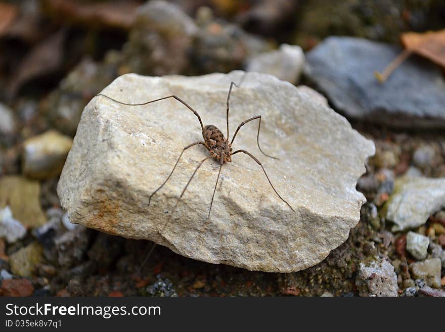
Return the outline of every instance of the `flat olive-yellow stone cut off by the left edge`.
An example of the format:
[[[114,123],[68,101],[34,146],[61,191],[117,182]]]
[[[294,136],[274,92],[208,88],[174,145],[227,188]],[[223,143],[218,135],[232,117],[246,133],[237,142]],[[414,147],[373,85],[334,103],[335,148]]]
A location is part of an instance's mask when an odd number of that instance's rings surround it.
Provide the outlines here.
[[[14,175],[0,178],[0,209],[7,205],[24,226],[38,227],[47,221],[40,206],[37,181]]]

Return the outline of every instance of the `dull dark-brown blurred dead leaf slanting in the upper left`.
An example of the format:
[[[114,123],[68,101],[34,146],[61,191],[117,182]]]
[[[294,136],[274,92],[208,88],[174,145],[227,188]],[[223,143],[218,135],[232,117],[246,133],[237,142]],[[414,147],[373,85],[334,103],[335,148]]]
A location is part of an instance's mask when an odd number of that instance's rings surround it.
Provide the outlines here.
[[[8,86],[8,97],[12,98],[20,87],[30,79],[49,74],[62,66],[65,31],[59,30],[38,43],[22,60]]]

